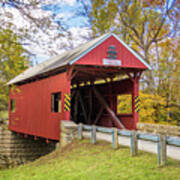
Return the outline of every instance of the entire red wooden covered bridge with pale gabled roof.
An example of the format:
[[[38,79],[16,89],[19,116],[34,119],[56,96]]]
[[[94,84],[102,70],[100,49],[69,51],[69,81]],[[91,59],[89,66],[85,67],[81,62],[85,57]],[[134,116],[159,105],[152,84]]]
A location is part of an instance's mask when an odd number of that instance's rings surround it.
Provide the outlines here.
[[[12,79],[9,129],[59,140],[61,120],[135,129],[139,79],[150,69],[115,34],[27,69]],[[117,97],[132,95],[132,112],[117,112]]]

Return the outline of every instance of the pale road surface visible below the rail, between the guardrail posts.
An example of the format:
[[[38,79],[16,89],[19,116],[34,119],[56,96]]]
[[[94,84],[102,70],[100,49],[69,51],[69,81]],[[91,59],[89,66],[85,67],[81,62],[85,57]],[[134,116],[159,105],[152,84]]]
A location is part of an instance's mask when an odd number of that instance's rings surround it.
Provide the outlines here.
[[[83,132],[83,136],[89,138],[90,132]],[[96,139],[112,142],[112,135],[98,132],[96,133]],[[118,136],[118,142],[120,145],[130,146],[130,138],[128,137]],[[138,140],[138,149],[157,154],[157,143]],[[167,145],[167,156],[172,159],[180,160],[180,147]]]

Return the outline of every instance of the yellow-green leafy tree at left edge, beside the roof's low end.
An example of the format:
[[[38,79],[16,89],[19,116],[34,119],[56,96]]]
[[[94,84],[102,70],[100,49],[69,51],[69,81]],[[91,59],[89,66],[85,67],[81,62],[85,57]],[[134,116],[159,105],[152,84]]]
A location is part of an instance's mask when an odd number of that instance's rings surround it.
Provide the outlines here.
[[[8,107],[6,83],[28,66],[26,51],[11,30],[0,30],[0,111]]]

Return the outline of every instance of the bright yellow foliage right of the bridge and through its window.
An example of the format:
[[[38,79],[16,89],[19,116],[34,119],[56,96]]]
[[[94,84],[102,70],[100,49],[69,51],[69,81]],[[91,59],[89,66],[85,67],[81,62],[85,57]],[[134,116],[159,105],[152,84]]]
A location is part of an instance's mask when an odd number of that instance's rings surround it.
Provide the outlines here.
[[[139,122],[179,124],[180,112],[175,106],[168,107],[166,99],[157,94],[140,92]],[[170,112],[170,113],[169,113]],[[118,114],[132,113],[132,96],[129,94],[118,96]]]

